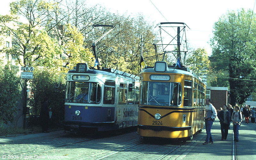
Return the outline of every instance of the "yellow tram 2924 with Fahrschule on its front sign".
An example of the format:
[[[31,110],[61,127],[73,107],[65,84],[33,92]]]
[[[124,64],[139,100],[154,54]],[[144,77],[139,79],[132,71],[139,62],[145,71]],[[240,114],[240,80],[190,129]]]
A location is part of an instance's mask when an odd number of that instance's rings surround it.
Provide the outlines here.
[[[189,68],[156,61],[140,72],[138,134],[192,139],[204,126],[205,84]]]

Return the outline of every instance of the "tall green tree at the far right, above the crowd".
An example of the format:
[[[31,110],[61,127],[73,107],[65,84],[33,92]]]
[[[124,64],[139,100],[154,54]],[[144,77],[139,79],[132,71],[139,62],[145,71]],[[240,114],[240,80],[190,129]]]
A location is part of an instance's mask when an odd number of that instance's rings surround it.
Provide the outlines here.
[[[228,71],[232,105],[243,104],[255,90],[255,17],[252,10],[228,11],[214,24],[212,67]]]

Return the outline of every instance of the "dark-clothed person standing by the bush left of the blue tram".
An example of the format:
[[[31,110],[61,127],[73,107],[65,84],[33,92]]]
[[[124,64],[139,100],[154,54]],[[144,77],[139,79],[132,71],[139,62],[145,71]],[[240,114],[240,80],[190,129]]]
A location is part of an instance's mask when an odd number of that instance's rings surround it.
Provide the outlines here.
[[[42,102],[41,112],[40,112],[40,119],[42,124],[42,132],[48,132],[48,124],[49,124],[49,108],[48,108],[48,97],[44,97],[44,101]]]

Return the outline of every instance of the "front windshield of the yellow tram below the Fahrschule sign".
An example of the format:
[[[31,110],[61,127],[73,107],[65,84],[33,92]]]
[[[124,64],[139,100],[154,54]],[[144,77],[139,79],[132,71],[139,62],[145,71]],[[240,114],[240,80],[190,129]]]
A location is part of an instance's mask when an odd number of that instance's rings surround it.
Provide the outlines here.
[[[142,105],[178,106],[181,104],[181,85],[170,82],[143,82]]]

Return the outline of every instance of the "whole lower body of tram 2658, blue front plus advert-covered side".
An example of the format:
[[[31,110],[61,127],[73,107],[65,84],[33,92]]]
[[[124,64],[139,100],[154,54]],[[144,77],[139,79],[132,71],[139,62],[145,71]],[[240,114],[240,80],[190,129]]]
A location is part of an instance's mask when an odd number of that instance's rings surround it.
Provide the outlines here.
[[[75,112],[79,110],[80,115]],[[116,113],[116,116],[115,116]],[[138,125],[136,107],[96,107],[65,105],[64,129],[96,128],[97,131],[117,130]]]

